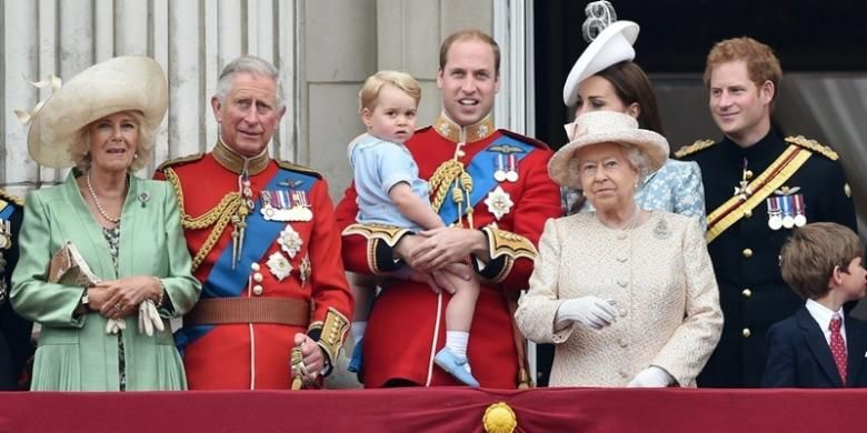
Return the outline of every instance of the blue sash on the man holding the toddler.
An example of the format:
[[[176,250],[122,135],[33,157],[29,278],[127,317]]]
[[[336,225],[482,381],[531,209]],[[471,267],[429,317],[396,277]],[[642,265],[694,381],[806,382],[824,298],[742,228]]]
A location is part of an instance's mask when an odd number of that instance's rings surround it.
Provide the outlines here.
[[[532,151],[532,145],[522,143],[511,137],[500,137],[490,143],[485,150],[472,157],[469,167],[467,167],[467,173],[472,178],[472,192],[470,192],[470,205],[476,208],[488,192],[492,191],[499,182],[494,179],[494,172],[497,170],[497,160],[500,155],[508,155],[508,153],[501,151],[491,150],[492,148],[514,147],[520,149],[515,154],[515,160],[520,161]],[[517,170],[517,167],[516,167]],[[446,224],[451,224],[458,220],[458,205],[452,200],[451,185],[445,185],[449,189],[446,200],[439,208],[439,216]],[[467,213],[465,208],[464,214]]]

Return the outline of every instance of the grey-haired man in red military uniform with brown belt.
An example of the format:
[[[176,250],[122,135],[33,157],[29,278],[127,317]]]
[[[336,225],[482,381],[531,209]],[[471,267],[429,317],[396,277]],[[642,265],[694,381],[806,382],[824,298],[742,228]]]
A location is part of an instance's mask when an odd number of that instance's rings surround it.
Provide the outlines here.
[[[211,98],[212,151],[163,163],[202,295],[183,318],[191,390],[288,390],[300,348],[305,386],[321,385],[352,314],[340,232],[322,177],[268,155],[286,112],[278,70],[245,56]]]

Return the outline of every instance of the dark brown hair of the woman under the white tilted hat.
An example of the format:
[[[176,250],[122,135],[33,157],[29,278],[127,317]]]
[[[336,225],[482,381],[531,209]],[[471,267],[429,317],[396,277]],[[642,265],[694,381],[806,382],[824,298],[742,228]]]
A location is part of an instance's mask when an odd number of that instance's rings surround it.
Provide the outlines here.
[[[596,74],[611,83],[617,98],[620,98],[625,105],[638,103],[639,128],[665,135],[659,107],[656,103],[656,92],[641,67],[627,60],[602,69]]]

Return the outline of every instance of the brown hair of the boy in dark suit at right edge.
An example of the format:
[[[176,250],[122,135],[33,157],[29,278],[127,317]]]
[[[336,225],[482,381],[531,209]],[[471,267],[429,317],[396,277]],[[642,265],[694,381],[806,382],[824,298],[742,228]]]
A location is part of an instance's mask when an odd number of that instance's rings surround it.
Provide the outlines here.
[[[803,299],[830,291],[835,268],[848,272],[849,262],[864,255],[861,240],[851,229],[834,222],[815,222],[796,229],[780,250],[783,280]]]

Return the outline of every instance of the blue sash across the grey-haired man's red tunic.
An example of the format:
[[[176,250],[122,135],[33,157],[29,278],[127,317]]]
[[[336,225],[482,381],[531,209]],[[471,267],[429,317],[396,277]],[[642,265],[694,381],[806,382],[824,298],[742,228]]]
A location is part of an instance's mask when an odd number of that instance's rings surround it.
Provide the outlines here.
[[[292,188],[292,190],[310,192],[316,181],[317,178],[312,175],[281,169],[271,178],[265,189],[277,190],[281,184],[282,188],[292,184],[298,185]],[[253,203],[253,210],[247,215],[247,231],[238,263],[232,269],[232,248],[230,243],[222,251],[213,268],[211,268],[208,278],[205,279],[201,290],[202,299],[239,296],[247,288],[250,279],[250,265],[262,260],[273,240],[286,228],[286,223],[281,223],[281,221],[267,221],[262,216],[261,212],[259,212],[262,207],[260,200],[256,200]],[[175,344],[183,350],[187,344],[198,340],[212,329],[213,325],[208,324],[183,326],[182,330],[175,334]]]

